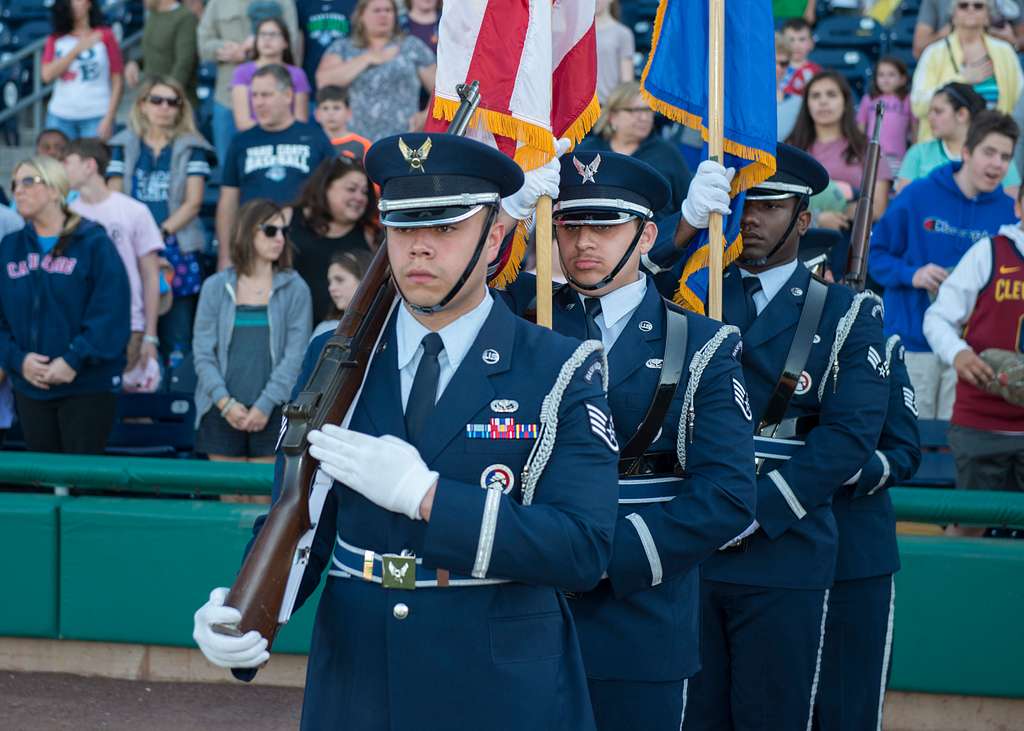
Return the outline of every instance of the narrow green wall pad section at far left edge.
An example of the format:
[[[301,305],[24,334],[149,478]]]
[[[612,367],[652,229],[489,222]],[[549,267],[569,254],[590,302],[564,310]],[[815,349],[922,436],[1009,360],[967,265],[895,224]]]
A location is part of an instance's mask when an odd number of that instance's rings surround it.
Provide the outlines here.
[[[57,636],[60,500],[0,493],[0,636]]]

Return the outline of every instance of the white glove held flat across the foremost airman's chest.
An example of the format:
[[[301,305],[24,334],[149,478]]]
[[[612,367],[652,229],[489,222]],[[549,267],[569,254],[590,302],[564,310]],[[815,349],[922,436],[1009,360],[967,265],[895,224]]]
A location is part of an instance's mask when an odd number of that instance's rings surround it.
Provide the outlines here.
[[[321,469],[392,513],[420,520],[423,497],[437,483],[412,444],[390,434],[368,436],[333,424],[309,432]]]

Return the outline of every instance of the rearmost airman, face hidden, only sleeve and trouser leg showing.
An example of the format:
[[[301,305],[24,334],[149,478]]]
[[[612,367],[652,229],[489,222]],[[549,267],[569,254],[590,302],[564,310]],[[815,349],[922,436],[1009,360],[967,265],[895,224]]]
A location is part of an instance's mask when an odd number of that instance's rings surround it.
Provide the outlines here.
[[[836,583],[828,596],[821,685],[814,711],[820,731],[882,728],[892,668],[899,570],[896,516],[889,487],[921,464],[918,406],[898,335],[886,342],[889,411],[878,448],[833,498],[839,528]]]

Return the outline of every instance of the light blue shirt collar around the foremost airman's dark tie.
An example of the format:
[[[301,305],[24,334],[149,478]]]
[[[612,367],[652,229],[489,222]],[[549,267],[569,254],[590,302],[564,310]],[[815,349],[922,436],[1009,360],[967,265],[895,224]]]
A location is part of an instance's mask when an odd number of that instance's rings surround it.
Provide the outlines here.
[[[444,326],[437,334],[441,336],[444,349],[437,356],[440,365],[440,374],[437,376],[437,400],[440,399],[449,381],[459,370],[459,364],[466,357],[469,348],[480,333],[480,328],[490,314],[490,308],[495,301],[490,293],[483,295],[483,300],[466,314],[462,315],[454,322]],[[395,325],[395,339],[398,343],[398,373],[401,383],[401,410],[406,411],[409,403],[409,392],[413,390],[413,379],[416,377],[416,369],[420,367],[420,358],[423,357],[423,338],[429,333],[413,313],[409,311],[404,303],[398,305],[398,321]],[[434,401],[434,403],[437,402]]]

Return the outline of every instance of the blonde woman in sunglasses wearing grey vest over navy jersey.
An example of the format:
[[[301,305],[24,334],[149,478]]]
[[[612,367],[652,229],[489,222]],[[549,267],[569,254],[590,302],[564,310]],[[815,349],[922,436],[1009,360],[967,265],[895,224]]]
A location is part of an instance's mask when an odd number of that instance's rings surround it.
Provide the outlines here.
[[[158,325],[161,360],[191,350],[196,301],[202,284],[199,253],[206,231],[199,220],[213,147],[196,130],[184,89],[170,77],[139,88],[128,127],[111,140],[106,177],[112,190],[144,203],[164,234],[164,257],[174,270],[174,303]]]

